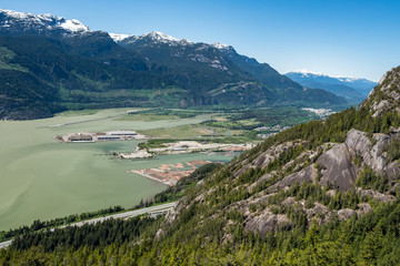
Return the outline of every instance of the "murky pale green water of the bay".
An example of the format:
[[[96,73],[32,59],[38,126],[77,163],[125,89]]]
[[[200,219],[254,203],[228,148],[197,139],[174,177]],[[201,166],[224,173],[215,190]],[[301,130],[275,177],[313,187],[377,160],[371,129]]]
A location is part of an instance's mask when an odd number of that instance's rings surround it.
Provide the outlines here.
[[[73,132],[148,130],[208,119],[140,122],[118,121],[128,110],[103,110],[92,115],[59,115],[36,121],[0,122],[0,231],[69,214],[114,205],[134,206],[166,185],[128,170],[191,160],[222,160],[226,156],[186,154],[154,160],[123,161],[104,155],[133,151],[139,141],[59,143],[56,135]]]

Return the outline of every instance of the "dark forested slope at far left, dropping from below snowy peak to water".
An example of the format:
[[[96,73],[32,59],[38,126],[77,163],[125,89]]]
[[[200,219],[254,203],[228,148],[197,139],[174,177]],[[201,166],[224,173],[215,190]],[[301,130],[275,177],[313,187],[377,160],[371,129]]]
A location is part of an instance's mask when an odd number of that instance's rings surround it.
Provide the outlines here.
[[[150,72],[104,64],[43,37],[0,37],[0,117],[37,119],[67,109],[146,104],[131,90],[152,89]],[[142,103],[143,102],[143,103]]]

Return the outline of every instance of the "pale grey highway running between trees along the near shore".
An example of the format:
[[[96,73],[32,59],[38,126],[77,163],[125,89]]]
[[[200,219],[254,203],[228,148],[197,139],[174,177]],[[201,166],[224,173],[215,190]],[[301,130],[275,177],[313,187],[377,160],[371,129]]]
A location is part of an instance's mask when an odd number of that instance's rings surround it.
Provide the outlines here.
[[[118,219],[118,218],[131,218],[141,214],[151,214],[151,213],[160,213],[160,212],[164,212],[164,211],[170,211],[176,206],[177,202],[172,202],[172,203],[166,203],[166,204],[161,204],[161,205],[157,205],[157,206],[152,206],[152,207],[146,207],[146,208],[140,208],[140,209],[136,209],[136,211],[130,211],[130,212],[124,212],[124,213],[119,213],[119,214],[111,214],[108,216],[103,216],[103,217],[98,217],[98,218],[92,218],[92,219],[87,219],[87,221],[82,221],[82,222],[78,222],[78,223],[73,223],[73,224],[69,224],[69,225],[63,225],[57,228],[63,228],[67,226],[82,226],[84,224],[96,224],[96,223],[101,223],[106,219]],[[54,231],[54,228],[51,228],[51,231]],[[11,241],[7,241],[7,242],[2,242],[0,243],[0,249],[1,248],[6,248],[8,246],[10,246],[12,243]]]

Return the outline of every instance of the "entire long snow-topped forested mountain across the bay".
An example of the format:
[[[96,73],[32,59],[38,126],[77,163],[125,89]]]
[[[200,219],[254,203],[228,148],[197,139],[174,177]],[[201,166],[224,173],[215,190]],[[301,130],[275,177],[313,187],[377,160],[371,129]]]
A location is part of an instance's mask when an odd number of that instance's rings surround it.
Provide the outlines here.
[[[346,103],[267,64],[249,71],[216,45],[159,32],[111,35],[78,20],[0,10],[0,119],[116,106]]]

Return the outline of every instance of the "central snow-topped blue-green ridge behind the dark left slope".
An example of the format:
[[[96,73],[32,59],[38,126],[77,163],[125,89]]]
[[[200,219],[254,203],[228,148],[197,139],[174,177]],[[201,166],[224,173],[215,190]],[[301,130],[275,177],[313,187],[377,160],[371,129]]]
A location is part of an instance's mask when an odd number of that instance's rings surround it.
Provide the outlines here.
[[[112,34],[111,34],[112,35]],[[341,98],[323,90],[304,90],[281,75],[269,64],[259,63],[236,52],[231,45],[191,42],[162,32],[114,37],[122,47],[136,51],[153,64],[168,65],[169,71],[187,79],[182,86],[200,84],[207,96],[218,102],[240,99],[246,104],[346,104]],[[204,83],[203,78],[208,78]]]

